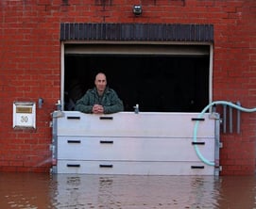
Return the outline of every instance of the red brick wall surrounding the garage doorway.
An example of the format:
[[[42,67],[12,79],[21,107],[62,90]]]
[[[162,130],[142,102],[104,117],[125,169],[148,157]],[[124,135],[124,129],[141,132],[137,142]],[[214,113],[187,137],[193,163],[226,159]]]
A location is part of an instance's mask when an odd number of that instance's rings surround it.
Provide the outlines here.
[[[142,2],[136,17],[132,6]],[[213,100],[256,104],[254,0],[2,0],[0,171],[48,171],[50,113],[60,99],[60,23],[213,24]],[[13,130],[14,101],[37,102],[36,130]],[[222,175],[255,171],[255,113],[241,134],[221,136]]]

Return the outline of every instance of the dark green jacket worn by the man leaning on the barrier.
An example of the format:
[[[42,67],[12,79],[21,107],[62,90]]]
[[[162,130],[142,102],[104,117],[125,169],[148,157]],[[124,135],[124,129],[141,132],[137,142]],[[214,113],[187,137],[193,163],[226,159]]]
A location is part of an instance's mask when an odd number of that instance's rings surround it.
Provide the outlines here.
[[[124,111],[124,104],[118,98],[116,92],[112,88],[106,88],[100,97],[96,88],[87,90],[85,95],[77,100],[75,110],[84,113],[93,113],[94,104],[101,104],[104,107],[104,114]]]

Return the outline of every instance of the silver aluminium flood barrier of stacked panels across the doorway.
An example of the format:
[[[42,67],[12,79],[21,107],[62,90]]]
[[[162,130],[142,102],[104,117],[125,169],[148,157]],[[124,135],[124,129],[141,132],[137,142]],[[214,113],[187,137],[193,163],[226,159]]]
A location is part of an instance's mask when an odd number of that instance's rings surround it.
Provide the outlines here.
[[[206,113],[55,111],[54,173],[218,175],[219,117]],[[199,122],[196,141],[195,123]],[[207,165],[198,157],[211,162]]]

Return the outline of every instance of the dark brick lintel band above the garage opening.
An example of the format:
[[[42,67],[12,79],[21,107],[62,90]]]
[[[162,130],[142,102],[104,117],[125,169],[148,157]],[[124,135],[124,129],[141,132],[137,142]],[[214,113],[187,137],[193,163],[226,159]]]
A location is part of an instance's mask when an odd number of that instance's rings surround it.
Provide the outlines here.
[[[60,24],[60,40],[213,42],[213,24]]]

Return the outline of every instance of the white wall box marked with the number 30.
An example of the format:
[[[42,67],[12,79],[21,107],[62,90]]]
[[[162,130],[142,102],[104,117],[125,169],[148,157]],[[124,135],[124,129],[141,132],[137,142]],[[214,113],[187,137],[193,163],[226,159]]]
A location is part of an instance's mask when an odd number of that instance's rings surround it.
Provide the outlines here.
[[[36,128],[35,103],[13,103],[13,128]]]

